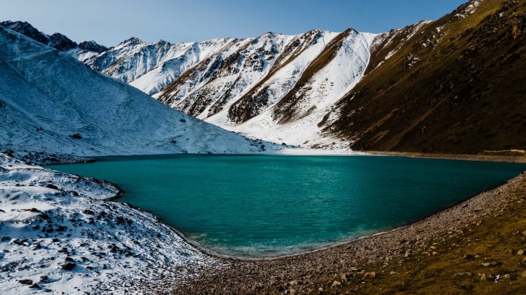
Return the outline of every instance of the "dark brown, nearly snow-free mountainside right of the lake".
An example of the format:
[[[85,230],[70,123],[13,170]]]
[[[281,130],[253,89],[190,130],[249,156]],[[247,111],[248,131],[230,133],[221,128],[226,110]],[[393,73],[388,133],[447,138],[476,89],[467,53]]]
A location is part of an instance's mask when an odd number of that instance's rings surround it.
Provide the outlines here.
[[[470,1],[377,36],[324,130],[355,150],[525,150],[525,73],[526,2]]]

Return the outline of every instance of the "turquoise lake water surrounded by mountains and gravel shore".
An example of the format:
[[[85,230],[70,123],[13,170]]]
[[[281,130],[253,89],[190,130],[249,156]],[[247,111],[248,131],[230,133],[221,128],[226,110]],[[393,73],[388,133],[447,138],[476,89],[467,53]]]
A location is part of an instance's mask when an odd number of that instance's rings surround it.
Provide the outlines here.
[[[414,222],[526,170],[524,164],[391,156],[171,155],[49,166],[125,190],[221,254],[277,256]]]

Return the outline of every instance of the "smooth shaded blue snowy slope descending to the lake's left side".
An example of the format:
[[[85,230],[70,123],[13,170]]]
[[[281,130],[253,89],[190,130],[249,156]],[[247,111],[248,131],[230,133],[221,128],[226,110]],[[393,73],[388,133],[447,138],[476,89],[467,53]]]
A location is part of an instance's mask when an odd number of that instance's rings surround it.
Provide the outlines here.
[[[1,26],[0,81],[2,150],[93,156],[275,149],[170,109]]]

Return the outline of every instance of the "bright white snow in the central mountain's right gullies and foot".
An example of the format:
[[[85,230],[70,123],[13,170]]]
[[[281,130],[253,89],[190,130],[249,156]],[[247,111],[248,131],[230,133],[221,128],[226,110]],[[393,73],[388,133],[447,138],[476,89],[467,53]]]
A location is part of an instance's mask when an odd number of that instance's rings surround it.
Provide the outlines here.
[[[318,123],[332,109],[339,99],[349,92],[363,77],[369,63],[369,46],[376,35],[353,31],[343,40],[336,56],[313,76],[298,92],[304,97],[296,106],[298,113],[314,109],[304,118],[279,124],[274,118],[274,107],[280,98],[295,86],[301,74],[318,57],[325,46],[338,33],[322,31],[322,41],[306,48],[294,60],[280,68],[259,89],[268,88],[271,93],[269,106],[250,120],[235,124],[228,120],[228,109],[205,121],[217,124],[245,136],[267,141],[327,149],[348,149],[348,143],[323,134]],[[304,90],[305,89],[305,90]]]

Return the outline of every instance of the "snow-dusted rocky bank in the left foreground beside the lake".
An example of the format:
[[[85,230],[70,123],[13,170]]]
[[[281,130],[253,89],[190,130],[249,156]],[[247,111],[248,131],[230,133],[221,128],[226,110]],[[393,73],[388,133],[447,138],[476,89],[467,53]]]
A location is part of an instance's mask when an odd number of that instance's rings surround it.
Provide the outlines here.
[[[0,154],[0,293],[168,292],[220,266],[155,216],[105,201],[118,192]],[[66,262],[76,266],[65,270]]]

